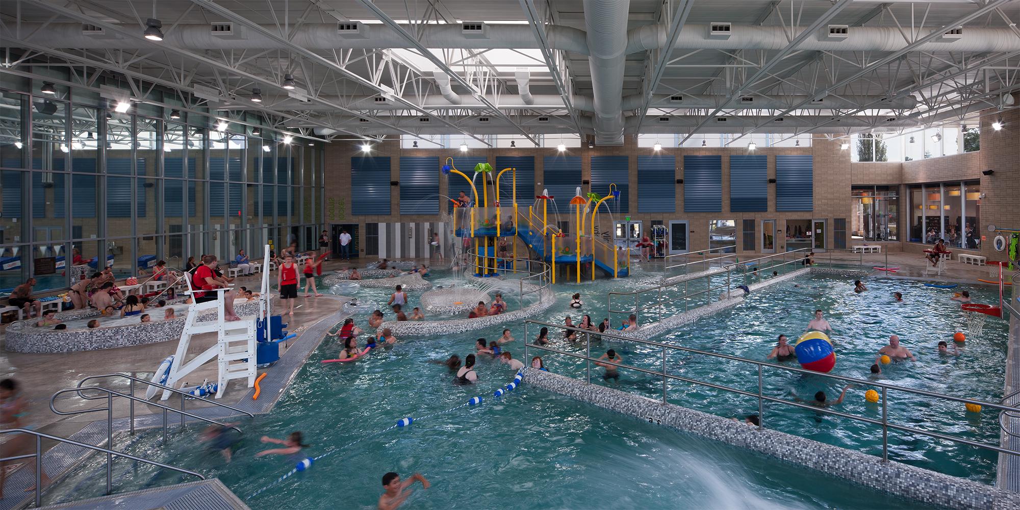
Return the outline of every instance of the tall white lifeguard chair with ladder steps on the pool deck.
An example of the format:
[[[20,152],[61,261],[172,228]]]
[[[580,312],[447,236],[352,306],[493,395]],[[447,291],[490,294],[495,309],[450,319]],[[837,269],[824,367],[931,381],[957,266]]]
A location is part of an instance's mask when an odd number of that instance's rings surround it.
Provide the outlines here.
[[[269,247],[265,247],[265,259],[268,261]],[[192,277],[188,275],[182,278],[186,282],[186,294],[193,299],[195,293],[206,292],[216,293],[215,301],[205,303],[192,303],[188,307],[188,317],[185,319],[185,327],[181,332],[181,341],[177,343],[177,350],[173,354],[173,360],[167,371],[166,388],[173,388],[182,378],[195,371],[212,358],[216,358],[216,398],[223,396],[226,385],[232,379],[247,378],[248,388],[255,386],[257,376],[256,367],[256,321],[258,316],[241,317],[241,320],[228,321],[225,319],[224,294],[230,288],[213,289],[208,291],[196,290],[192,286]],[[259,296],[260,313],[268,314],[268,278],[265,274],[262,277],[262,293]],[[263,302],[264,301],[264,302]],[[215,310],[216,316],[211,320],[199,320],[199,315],[203,312]],[[262,311],[264,310],[264,312]],[[185,357],[188,355],[188,348],[191,346],[191,339],[195,335],[204,333],[215,333],[217,336],[216,345],[206,349],[198,356],[195,356],[187,363]],[[163,391],[160,400],[169,398],[170,392]]]

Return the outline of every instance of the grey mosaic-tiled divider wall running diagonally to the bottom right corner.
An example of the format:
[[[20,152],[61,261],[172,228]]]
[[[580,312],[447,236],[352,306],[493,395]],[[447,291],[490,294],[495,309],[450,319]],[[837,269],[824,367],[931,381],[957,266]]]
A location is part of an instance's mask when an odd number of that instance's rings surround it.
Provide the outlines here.
[[[1020,495],[965,478],[929,471],[769,428],[590,385],[570,377],[526,368],[524,380],[543,390],[628,414],[670,428],[747,448],[797,466],[845,478],[869,489],[911,498],[928,505],[967,508],[1020,508]],[[768,423],[767,417],[765,424]]]

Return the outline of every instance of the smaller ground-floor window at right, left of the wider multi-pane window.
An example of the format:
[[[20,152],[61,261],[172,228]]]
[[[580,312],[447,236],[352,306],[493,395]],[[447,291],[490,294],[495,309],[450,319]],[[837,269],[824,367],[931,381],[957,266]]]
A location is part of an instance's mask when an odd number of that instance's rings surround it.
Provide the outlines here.
[[[851,195],[851,239],[899,241],[900,198],[896,187],[855,186]]]

